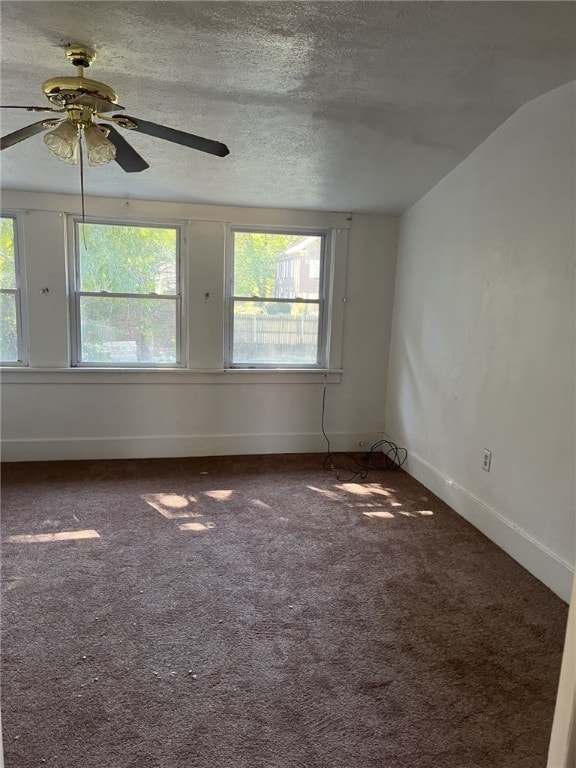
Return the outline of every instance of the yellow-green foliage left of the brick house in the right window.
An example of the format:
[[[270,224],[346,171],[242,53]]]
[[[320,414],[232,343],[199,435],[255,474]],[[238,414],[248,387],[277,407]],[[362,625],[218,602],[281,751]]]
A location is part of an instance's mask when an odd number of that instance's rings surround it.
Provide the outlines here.
[[[273,298],[276,258],[302,235],[271,232],[234,233],[234,295]]]

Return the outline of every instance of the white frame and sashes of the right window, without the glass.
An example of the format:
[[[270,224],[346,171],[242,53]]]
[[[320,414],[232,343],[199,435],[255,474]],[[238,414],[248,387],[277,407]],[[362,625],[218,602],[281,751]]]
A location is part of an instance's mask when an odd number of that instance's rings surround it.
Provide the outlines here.
[[[320,276],[318,299],[258,299],[253,296],[236,296],[234,294],[234,235],[236,232],[254,232],[277,235],[301,235],[302,237],[316,236],[322,238],[320,255]],[[224,368],[230,370],[262,369],[262,370],[318,370],[328,367],[330,358],[330,318],[332,314],[332,283],[334,270],[334,230],[298,226],[241,226],[228,225],[226,228],[226,322],[225,322],[225,354]],[[262,363],[262,362],[233,362],[234,354],[234,303],[236,301],[260,301],[261,303],[302,303],[318,305],[318,343],[315,363]]]

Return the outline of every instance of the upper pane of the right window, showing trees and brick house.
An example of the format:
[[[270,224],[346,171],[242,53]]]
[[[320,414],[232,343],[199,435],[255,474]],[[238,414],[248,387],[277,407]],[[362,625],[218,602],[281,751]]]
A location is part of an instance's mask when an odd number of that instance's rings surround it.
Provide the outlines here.
[[[320,235],[234,232],[234,295],[317,299]]]

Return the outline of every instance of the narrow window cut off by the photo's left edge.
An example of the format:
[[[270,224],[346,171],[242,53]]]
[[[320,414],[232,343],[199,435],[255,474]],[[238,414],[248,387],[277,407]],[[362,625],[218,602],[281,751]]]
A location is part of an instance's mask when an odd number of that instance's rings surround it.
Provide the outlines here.
[[[0,360],[26,362],[22,332],[22,289],[15,216],[0,217]]]

